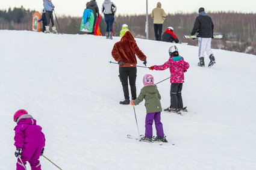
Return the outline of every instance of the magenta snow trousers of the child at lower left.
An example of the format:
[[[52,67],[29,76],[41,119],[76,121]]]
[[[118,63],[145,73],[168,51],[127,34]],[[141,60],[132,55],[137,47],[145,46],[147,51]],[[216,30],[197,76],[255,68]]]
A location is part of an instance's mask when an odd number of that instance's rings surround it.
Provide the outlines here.
[[[24,165],[27,164],[27,161],[30,163],[31,170],[41,170],[41,165],[39,161],[40,154],[42,152],[41,147],[39,148],[23,148],[22,153],[21,153],[21,160]],[[20,163],[20,160],[17,160],[16,163],[16,170],[24,170],[25,168],[23,167],[22,163]]]

